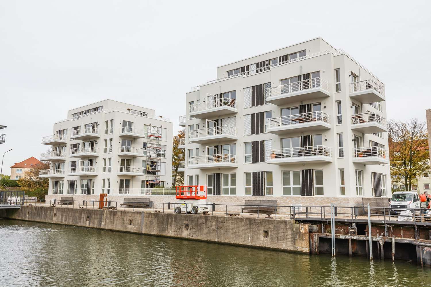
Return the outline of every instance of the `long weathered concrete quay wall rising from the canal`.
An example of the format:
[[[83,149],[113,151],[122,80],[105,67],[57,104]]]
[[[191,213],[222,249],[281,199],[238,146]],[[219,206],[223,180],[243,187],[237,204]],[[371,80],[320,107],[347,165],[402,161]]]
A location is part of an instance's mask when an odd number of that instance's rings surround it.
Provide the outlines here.
[[[0,217],[309,253],[309,225],[294,220],[38,206]]]

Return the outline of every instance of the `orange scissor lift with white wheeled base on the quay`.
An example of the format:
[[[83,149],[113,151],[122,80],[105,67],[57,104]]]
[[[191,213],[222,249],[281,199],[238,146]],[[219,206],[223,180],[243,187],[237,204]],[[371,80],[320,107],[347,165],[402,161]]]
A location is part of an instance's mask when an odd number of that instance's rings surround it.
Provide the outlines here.
[[[206,185],[181,185],[177,186],[177,204],[174,213],[206,214],[209,208],[206,207]]]

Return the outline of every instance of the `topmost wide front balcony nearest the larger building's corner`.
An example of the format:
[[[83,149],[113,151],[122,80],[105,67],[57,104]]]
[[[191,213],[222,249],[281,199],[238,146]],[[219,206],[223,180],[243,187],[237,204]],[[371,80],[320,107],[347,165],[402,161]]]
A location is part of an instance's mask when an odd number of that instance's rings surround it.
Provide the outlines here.
[[[274,105],[284,105],[324,97],[329,97],[328,82],[314,78],[269,88],[265,101]]]

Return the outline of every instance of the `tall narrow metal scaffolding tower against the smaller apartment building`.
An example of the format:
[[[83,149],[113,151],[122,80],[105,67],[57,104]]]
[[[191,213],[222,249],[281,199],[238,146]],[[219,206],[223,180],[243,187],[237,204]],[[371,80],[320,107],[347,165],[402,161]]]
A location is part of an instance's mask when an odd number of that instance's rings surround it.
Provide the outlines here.
[[[147,133],[147,172],[145,174],[147,188],[160,186],[161,139],[162,126],[153,126],[150,123]]]

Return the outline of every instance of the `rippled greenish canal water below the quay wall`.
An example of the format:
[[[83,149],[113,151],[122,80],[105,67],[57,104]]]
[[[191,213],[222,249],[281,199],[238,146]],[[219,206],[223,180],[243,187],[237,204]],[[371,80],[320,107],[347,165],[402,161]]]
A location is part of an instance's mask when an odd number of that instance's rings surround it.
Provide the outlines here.
[[[0,286],[431,286],[403,261],[310,256],[0,219]]]

